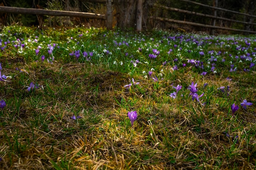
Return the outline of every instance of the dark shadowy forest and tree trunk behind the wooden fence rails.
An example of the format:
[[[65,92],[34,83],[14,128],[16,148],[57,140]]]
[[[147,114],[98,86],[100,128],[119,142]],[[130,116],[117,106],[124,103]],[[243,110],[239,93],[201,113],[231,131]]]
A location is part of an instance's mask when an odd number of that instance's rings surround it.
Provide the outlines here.
[[[101,13],[106,14],[106,4],[98,3],[102,0],[0,0],[2,6],[8,7],[23,7],[23,8],[40,8],[40,9],[52,9],[52,10],[64,10],[64,11],[81,11],[90,13]],[[193,0],[202,4],[213,6],[215,0]],[[120,28],[135,27],[136,23],[136,7],[137,0],[113,0],[113,26]],[[154,7],[153,4],[158,3],[167,7],[173,7],[183,9],[187,11],[194,11],[197,13],[204,13],[213,15],[213,9],[208,7],[202,7],[189,2],[181,0],[144,0],[143,1],[143,27],[149,28],[163,28],[171,29],[175,24],[168,24],[165,22],[159,22],[153,20],[155,16],[162,18],[171,18],[175,20],[211,24],[211,18],[203,18],[195,15],[188,15],[184,13],[177,13],[173,11],[167,11]],[[232,11],[238,11],[242,13],[249,13],[256,15],[256,1],[255,0],[218,0],[219,8],[229,9]],[[103,20],[86,19],[86,18],[70,18],[70,17],[58,17],[58,16],[38,16],[37,15],[24,15],[24,14],[11,14],[1,13],[0,20],[2,25],[20,24],[23,26],[38,26],[43,22],[44,26],[105,26]],[[129,15],[131,20],[127,21],[124,19],[126,15]],[[218,11],[218,17],[229,18],[240,21],[253,21],[252,18],[238,15],[225,11]],[[41,17],[41,18],[40,18]],[[220,21],[217,20],[217,26],[232,27],[235,29],[245,29],[244,24]],[[178,25],[178,27],[180,27]],[[183,26],[184,27],[184,26]],[[186,29],[189,29],[187,26]],[[254,26],[251,26],[250,30],[255,31]],[[195,28],[193,28],[195,29]]]

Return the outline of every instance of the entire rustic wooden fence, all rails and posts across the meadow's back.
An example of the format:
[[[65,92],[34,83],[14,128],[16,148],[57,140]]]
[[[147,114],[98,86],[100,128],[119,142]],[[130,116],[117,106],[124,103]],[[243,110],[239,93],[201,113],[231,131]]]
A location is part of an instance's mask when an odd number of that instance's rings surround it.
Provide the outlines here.
[[[55,15],[55,16],[71,16],[71,17],[82,17],[82,18],[94,18],[94,19],[101,19],[101,20],[106,20],[106,25],[108,29],[112,29],[112,0],[88,0],[91,2],[97,2],[97,3],[105,3],[107,12],[106,14],[97,14],[97,13],[84,13],[84,12],[74,12],[74,11],[57,11],[57,10],[47,10],[47,9],[28,9],[28,8],[17,8],[17,7],[2,7],[0,6],[0,13],[23,13],[23,14],[34,14],[34,15]],[[159,9],[165,9],[168,11],[175,11],[179,13],[186,13],[190,15],[197,15],[200,17],[204,18],[211,18],[213,20],[212,24],[203,24],[203,23],[195,23],[195,22],[188,22],[188,21],[182,21],[182,20],[174,20],[171,18],[161,18],[161,17],[151,17],[153,19],[163,21],[163,22],[172,22],[172,23],[177,23],[177,24],[186,24],[186,25],[192,25],[192,26],[201,26],[201,27],[207,27],[211,28],[211,31],[213,33],[214,29],[222,29],[222,30],[229,30],[229,31],[239,31],[239,32],[245,32],[245,33],[256,33],[256,31],[252,30],[243,30],[243,29],[234,29],[234,28],[229,28],[229,27],[224,27],[224,26],[216,26],[216,20],[225,20],[229,22],[236,22],[244,25],[256,25],[256,23],[251,23],[251,22],[245,22],[245,21],[239,21],[239,20],[232,20],[229,18],[223,18],[223,17],[218,17],[217,16],[217,11],[226,11],[229,13],[234,13],[237,15],[244,15],[250,18],[256,18],[255,15],[249,15],[247,13],[240,13],[237,11],[231,11],[227,9],[222,9],[218,8],[218,0],[213,0],[215,2],[213,6],[209,6],[206,4],[201,4],[198,2],[194,2],[191,0],[181,0],[183,2],[187,3],[192,3],[196,5],[200,5],[202,7],[207,7],[211,8],[214,10],[213,15],[207,15],[203,13],[196,13],[193,11],[186,11],[182,9],[177,9],[177,8],[172,8],[172,7],[165,7],[160,4],[154,4],[153,8],[157,7]],[[143,0],[137,0],[137,18],[136,18],[136,29],[137,31],[141,31],[142,29],[142,16],[143,16]],[[148,11],[147,11],[148,12]],[[145,22],[145,21],[144,21]]]

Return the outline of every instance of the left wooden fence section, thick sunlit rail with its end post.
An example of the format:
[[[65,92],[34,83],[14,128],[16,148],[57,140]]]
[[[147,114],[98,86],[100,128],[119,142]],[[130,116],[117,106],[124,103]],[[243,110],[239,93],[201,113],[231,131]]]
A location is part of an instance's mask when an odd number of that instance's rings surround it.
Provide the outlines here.
[[[107,29],[112,29],[112,1],[111,0],[92,0],[92,2],[106,3],[107,13],[85,13],[75,11],[58,11],[48,9],[33,9],[33,8],[18,8],[18,7],[4,7],[0,6],[0,13],[18,13],[18,14],[32,14],[32,15],[52,15],[52,16],[70,16],[81,18],[93,18],[106,20]]]

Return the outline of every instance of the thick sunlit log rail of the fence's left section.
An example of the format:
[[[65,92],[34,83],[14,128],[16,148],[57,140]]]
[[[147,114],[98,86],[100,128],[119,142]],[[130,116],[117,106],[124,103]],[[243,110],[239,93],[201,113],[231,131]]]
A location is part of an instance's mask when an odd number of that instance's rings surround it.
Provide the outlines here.
[[[23,14],[34,14],[34,15],[70,16],[70,17],[82,17],[82,18],[106,20],[106,15],[97,14],[97,13],[58,11],[58,10],[33,9],[33,8],[18,8],[18,7],[0,6],[0,13],[23,13]]]

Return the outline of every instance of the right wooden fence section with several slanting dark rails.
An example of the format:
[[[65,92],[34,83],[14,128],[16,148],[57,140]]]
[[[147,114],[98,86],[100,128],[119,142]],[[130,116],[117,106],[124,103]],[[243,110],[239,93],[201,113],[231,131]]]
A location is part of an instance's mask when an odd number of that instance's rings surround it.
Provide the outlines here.
[[[237,12],[237,11],[231,11],[231,10],[222,9],[222,8],[218,8],[218,7],[212,7],[212,6],[201,4],[201,3],[198,3],[198,2],[193,2],[191,0],[181,0],[181,1],[189,2],[189,3],[193,3],[193,4],[196,4],[196,5],[203,6],[203,7],[208,7],[208,8],[214,9],[214,14],[213,15],[207,15],[207,14],[203,14],[203,13],[196,13],[196,12],[193,12],[193,11],[186,11],[186,10],[177,9],[177,8],[165,7],[165,6],[160,5],[160,4],[154,4],[154,7],[158,7],[160,9],[165,9],[165,10],[169,10],[169,11],[175,11],[175,12],[179,12],[179,13],[186,13],[186,14],[197,15],[197,16],[201,16],[201,17],[212,18],[213,19],[213,22],[212,22],[213,24],[209,25],[209,24],[187,22],[187,21],[174,20],[174,19],[170,19],[170,18],[161,18],[161,17],[151,17],[151,18],[159,20],[159,21],[164,21],[164,22],[172,22],[172,23],[177,23],[177,24],[187,24],[187,25],[192,25],[192,26],[207,27],[207,28],[211,28],[212,29],[211,33],[213,33],[214,29],[222,29],[222,30],[229,30],[229,31],[239,31],[239,32],[246,32],[246,33],[256,33],[256,31],[251,31],[251,30],[233,29],[233,28],[228,28],[228,27],[216,26],[215,25],[216,24],[216,20],[226,20],[226,21],[237,22],[237,23],[241,23],[241,24],[256,25],[256,23],[249,23],[249,22],[244,22],[244,21],[239,21],[239,20],[232,20],[232,19],[229,19],[229,18],[218,17],[217,16],[217,11],[218,10],[226,11],[226,12],[229,12],[229,13],[235,13],[235,14],[238,14],[238,15],[245,15],[245,16],[251,17],[251,18],[256,18],[255,15],[249,15],[247,13],[240,13],[240,12]],[[216,0],[216,2],[218,2],[218,0]],[[215,2],[215,4],[217,4],[216,2]]]

